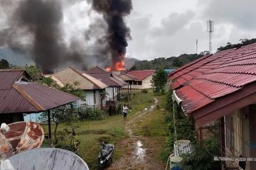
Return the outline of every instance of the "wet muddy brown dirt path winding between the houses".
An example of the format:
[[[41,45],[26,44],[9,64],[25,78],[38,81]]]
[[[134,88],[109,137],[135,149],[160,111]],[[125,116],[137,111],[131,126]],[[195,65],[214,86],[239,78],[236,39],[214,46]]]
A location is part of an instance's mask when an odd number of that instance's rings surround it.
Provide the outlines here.
[[[153,140],[150,137],[136,136],[132,131],[136,128],[136,122],[143,121],[144,118],[154,110],[158,102],[159,101],[154,98],[153,105],[145,108],[144,111],[135,113],[126,123],[125,130],[129,138],[119,141],[116,145],[116,147],[121,150],[122,156],[117,162],[113,162],[108,170],[165,169],[164,164],[154,157],[154,153],[159,150],[159,148],[156,147],[159,141]],[[148,147],[146,148],[144,144]]]

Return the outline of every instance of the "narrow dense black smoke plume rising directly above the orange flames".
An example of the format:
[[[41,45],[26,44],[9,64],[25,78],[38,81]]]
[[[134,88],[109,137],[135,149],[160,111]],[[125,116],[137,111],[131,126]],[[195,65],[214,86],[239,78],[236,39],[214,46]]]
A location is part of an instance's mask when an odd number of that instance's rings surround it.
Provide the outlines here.
[[[102,13],[107,23],[107,44],[110,47],[112,62],[120,62],[126,53],[127,38],[131,38],[130,29],[124,17],[132,11],[132,0],[90,0],[92,8]]]

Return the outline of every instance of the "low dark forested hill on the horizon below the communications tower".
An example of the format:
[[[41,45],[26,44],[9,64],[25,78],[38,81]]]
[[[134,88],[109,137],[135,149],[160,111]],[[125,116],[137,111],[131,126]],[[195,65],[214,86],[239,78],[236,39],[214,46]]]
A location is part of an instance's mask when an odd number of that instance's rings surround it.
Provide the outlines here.
[[[183,66],[183,64],[187,64],[193,60],[202,57],[203,55],[197,54],[183,54],[178,57],[169,57],[169,58],[156,58],[151,61],[142,60],[136,61],[132,70],[140,70],[140,69],[171,69]]]

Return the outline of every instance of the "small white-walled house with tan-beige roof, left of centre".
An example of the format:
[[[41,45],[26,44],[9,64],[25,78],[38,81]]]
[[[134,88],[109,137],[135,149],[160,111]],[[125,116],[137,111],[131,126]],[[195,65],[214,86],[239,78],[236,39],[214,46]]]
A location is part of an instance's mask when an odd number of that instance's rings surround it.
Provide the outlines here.
[[[107,84],[95,79],[95,77],[90,76],[90,74],[73,67],[67,67],[53,74],[46,75],[46,77],[48,76],[55,80],[60,86],[74,84],[76,87],[85,91],[85,101],[80,100],[78,105],[86,104],[87,106],[97,108],[102,107]]]

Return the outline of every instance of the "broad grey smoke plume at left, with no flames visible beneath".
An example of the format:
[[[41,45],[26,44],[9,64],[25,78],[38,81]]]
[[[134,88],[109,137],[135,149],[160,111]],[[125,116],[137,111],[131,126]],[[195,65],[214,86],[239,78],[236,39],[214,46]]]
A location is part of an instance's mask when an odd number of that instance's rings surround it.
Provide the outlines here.
[[[3,2],[1,5],[5,6]],[[63,6],[60,1],[21,0],[8,20],[10,28],[0,31],[0,45],[31,53],[33,61],[43,72],[50,73],[68,64],[85,68],[85,65],[80,65],[85,56],[80,50],[71,49],[63,40]],[[25,40],[18,41],[22,37]]]

